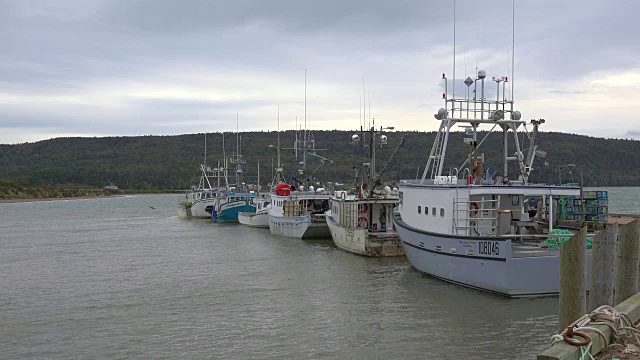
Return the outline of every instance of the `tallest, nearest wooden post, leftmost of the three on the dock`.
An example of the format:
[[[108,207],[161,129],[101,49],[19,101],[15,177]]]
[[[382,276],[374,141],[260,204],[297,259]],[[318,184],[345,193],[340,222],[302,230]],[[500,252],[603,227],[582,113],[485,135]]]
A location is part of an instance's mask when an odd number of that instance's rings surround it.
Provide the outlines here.
[[[587,228],[583,227],[560,248],[560,314],[562,332],[587,308]]]

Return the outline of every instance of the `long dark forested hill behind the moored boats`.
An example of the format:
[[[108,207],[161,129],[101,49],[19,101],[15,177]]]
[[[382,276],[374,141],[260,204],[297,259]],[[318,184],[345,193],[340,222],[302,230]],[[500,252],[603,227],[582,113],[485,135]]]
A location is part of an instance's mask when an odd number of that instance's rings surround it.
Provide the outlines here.
[[[389,143],[378,152],[382,168],[405,133],[387,133]],[[271,176],[271,162],[276,151],[276,132],[241,133],[242,154],[247,182],[255,182],[257,162],[261,164],[262,183]],[[316,147],[326,149],[319,155],[333,160],[318,172],[324,181],[352,182],[353,166],[367,162],[367,151],[350,142],[351,131],[313,131]],[[383,179],[397,181],[415,178],[422,173],[435,133],[408,132],[406,144],[389,165]],[[449,140],[445,168],[460,166],[466,159],[468,146],[462,133],[453,133]],[[479,136],[479,139],[483,134]],[[281,147],[291,148],[294,132],[280,135]],[[227,156],[236,144],[235,134],[226,133]],[[510,138],[510,141],[513,139]],[[640,141],[594,138],[581,135],[542,132],[538,135],[540,150],[549,154],[548,165],[543,159],[534,163],[533,180],[557,182],[561,166],[575,164],[574,170],[562,169],[562,181],[577,182],[580,169],[585,185],[640,185]],[[511,145],[511,144],[510,144]],[[521,140],[523,151],[528,148],[526,137]],[[512,147],[510,147],[512,149]],[[486,154],[485,169],[501,168],[502,140],[492,134],[482,145]],[[222,134],[207,134],[207,165],[222,161]],[[0,145],[0,180],[24,185],[77,184],[102,187],[108,184],[124,189],[181,189],[197,182],[199,164],[204,156],[204,135],[140,136],[105,138],[57,138],[36,143]],[[282,162],[287,178],[294,175],[296,164],[292,150],[282,150]],[[308,169],[315,169],[319,160],[311,158]],[[514,164],[511,163],[511,169]]]

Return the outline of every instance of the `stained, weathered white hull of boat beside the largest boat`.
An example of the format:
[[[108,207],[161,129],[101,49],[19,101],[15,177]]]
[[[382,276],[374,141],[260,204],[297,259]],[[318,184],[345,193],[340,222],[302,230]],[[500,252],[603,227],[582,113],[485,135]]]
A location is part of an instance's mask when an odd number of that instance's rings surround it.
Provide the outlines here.
[[[338,248],[364,256],[404,256],[404,248],[397,232],[370,232],[365,228],[347,228],[333,219],[331,211],[325,214],[331,238]]]

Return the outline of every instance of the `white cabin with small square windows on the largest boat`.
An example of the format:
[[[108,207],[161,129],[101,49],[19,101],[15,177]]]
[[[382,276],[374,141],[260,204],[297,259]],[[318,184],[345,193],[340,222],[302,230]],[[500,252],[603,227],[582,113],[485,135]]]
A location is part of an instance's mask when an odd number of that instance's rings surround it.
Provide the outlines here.
[[[528,198],[578,196],[580,188],[549,185],[474,185],[452,177],[402,180],[400,213],[408,225],[429,232],[461,236],[523,235],[538,227],[530,218]]]

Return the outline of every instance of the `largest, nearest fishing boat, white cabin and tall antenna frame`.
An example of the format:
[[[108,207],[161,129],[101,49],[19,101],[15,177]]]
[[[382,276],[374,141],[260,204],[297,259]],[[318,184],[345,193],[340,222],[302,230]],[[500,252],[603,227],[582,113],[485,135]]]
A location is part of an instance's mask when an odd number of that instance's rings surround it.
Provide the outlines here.
[[[528,199],[554,204],[561,197],[579,196],[581,189],[530,181],[536,156],[547,155],[535,145],[545,120],[522,120],[513,91],[511,99],[505,93],[508,77],[492,77],[496,97],[486,98],[486,78],[485,71],[477,71],[475,79],[464,81],[466,97],[456,98],[455,92],[449,97],[443,74],[444,107],[435,114],[440,126],[422,177],[400,181],[394,224],[407,258],[421,272],[509,297],[554,295],[560,287],[559,250],[538,246],[551,236],[554,206],[548,206],[544,223],[530,216]],[[472,85],[479,96],[469,96]],[[447,170],[445,155],[456,124],[464,130],[468,152],[466,159],[456,159],[462,165]],[[521,131],[528,125],[531,131]],[[481,127],[490,128],[478,141]],[[495,133],[502,136],[501,169],[489,166],[485,172],[482,144]],[[529,142],[526,154],[520,139]],[[590,250],[587,257],[590,266]]]

